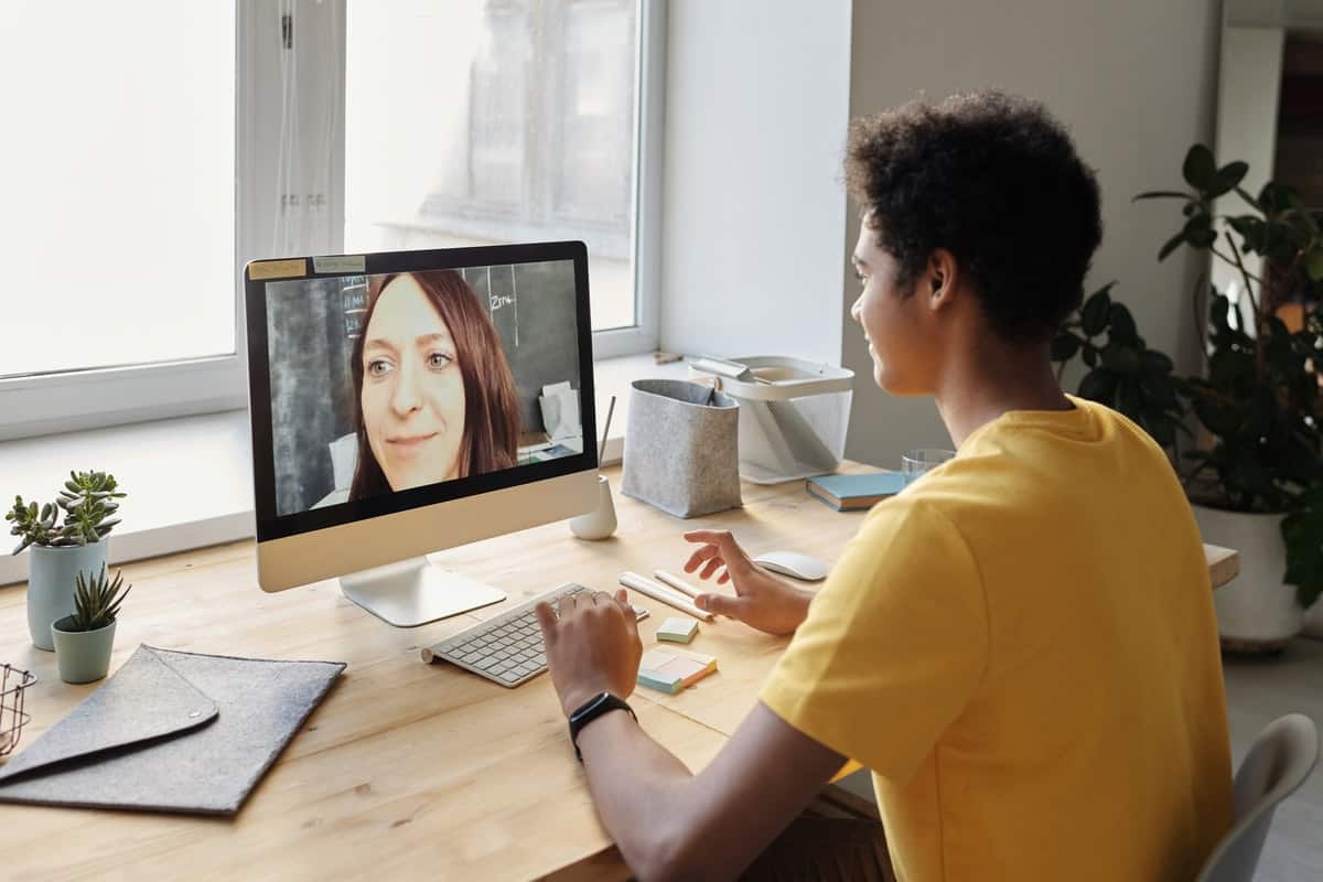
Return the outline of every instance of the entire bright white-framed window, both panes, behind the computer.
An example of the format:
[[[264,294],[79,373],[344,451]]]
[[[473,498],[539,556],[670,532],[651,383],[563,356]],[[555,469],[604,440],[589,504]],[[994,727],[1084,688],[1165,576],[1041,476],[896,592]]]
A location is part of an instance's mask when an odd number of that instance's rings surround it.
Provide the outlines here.
[[[242,407],[239,268],[282,254],[585,239],[595,353],[652,348],[660,7],[7,12],[54,37],[0,54],[0,438]]]

